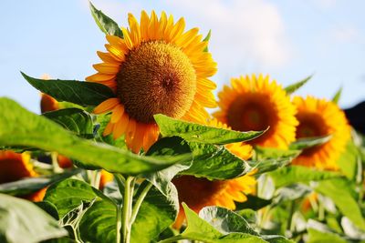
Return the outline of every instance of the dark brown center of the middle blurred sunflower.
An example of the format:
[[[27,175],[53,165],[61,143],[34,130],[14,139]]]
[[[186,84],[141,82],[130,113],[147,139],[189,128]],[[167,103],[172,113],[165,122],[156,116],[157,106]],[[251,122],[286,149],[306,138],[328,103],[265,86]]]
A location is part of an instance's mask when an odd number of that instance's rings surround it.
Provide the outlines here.
[[[228,109],[228,125],[237,131],[259,131],[272,126],[266,100],[264,96],[238,97]]]

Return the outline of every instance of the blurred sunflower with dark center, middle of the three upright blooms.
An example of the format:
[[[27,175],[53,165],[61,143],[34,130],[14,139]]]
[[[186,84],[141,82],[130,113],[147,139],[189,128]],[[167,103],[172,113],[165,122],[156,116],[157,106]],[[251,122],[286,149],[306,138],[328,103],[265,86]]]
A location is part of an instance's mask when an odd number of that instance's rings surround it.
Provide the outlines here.
[[[269,130],[248,141],[262,147],[287,148],[295,140],[296,109],[282,86],[269,76],[240,76],[231,79],[219,94],[220,110],[214,116],[237,131]]]

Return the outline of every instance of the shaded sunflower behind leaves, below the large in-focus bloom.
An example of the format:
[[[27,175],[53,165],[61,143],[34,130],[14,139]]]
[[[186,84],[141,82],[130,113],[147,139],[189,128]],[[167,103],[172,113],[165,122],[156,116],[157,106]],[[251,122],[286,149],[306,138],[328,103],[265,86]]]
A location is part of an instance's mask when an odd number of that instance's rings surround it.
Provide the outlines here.
[[[229,129],[229,127],[216,119],[210,120],[207,125]],[[245,143],[229,144],[225,147],[235,156],[242,159],[248,159],[252,156],[252,147]],[[254,173],[251,172],[243,177],[228,180],[209,180],[201,177],[182,176],[174,178],[172,183],[177,188],[179,201],[186,203],[189,208],[192,208],[197,213],[207,206],[235,209],[235,201],[244,202],[247,199],[245,194],[255,191],[256,181],[255,177],[253,177]],[[180,228],[184,218],[183,207],[180,205],[179,215],[174,227]]]

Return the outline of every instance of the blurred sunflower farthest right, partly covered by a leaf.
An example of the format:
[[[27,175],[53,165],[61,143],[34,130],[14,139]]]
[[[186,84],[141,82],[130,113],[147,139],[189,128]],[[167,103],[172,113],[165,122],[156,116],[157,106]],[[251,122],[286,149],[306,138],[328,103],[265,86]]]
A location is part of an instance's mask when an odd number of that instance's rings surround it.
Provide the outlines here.
[[[336,170],[336,160],[346,147],[350,137],[348,120],[335,103],[313,96],[296,96],[293,104],[297,106],[297,139],[331,135],[330,140],[320,146],[305,149],[293,160],[294,165]]]

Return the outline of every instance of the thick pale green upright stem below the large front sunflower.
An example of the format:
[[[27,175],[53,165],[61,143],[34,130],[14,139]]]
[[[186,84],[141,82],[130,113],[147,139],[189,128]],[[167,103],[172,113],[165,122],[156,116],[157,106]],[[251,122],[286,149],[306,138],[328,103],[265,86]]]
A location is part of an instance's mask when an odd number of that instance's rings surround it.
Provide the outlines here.
[[[127,177],[124,187],[123,212],[121,218],[121,231],[123,235],[123,243],[130,243],[130,209],[132,201],[132,188],[134,185],[134,177]]]

